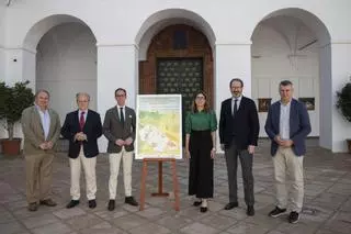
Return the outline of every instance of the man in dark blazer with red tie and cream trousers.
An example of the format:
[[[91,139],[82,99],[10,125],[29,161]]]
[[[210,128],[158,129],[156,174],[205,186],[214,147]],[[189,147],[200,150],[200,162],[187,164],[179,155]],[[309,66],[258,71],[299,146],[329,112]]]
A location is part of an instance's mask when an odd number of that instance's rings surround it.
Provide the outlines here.
[[[80,199],[80,171],[84,168],[87,198],[89,208],[97,207],[97,156],[99,155],[98,138],[102,135],[100,114],[89,110],[90,96],[77,93],[78,110],[66,115],[61,135],[69,141],[69,166],[71,176],[71,201],[67,209],[79,204]]]

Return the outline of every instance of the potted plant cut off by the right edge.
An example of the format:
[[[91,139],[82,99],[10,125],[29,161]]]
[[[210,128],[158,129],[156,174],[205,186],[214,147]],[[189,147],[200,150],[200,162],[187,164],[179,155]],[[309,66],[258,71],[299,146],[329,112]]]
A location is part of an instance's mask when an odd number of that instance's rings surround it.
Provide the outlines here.
[[[351,82],[348,82],[337,92],[337,108],[341,111],[344,119],[351,122]],[[347,138],[349,153],[351,153],[351,138]]]

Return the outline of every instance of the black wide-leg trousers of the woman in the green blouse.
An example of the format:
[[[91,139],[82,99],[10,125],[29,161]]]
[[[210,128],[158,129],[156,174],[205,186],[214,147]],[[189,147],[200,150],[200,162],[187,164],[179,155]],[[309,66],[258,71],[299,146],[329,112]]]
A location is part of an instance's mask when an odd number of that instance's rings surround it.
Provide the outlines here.
[[[210,131],[192,131],[190,135],[189,194],[213,198],[213,147]]]

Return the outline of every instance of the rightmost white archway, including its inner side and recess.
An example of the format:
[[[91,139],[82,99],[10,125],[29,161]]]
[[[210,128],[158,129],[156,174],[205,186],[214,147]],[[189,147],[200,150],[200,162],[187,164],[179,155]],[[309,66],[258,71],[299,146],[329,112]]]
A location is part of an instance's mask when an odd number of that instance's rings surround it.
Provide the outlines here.
[[[319,136],[320,146],[331,148],[331,51],[325,24],[308,11],[282,9],[267,15],[251,40],[252,98],[276,101],[280,80],[292,80],[295,98],[314,102],[310,135]],[[260,112],[261,125],[265,118]],[[265,135],[263,130],[260,135]]]

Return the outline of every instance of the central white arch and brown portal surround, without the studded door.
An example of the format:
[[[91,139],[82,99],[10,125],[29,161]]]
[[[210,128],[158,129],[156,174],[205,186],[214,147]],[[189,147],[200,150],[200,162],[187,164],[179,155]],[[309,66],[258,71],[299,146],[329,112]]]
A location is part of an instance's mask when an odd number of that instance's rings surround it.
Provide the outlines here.
[[[183,40],[185,47],[176,46],[176,48],[173,46],[176,37]],[[143,23],[135,38],[139,52],[139,93],[157,93],[158,58],[201,58],[203,67],[201,88],[208,93],[210,103],[214,103],[215,41],[216,36],[211,25],[195,12],[165,9],[151,14]]]

